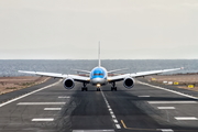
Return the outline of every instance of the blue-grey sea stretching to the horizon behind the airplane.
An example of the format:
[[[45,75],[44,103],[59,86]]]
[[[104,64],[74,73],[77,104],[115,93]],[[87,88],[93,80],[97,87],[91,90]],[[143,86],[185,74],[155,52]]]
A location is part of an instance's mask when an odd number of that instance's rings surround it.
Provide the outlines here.
[[[91,70],[96,66],[97,59],[0,59],[0,77],[30,76],[18,70],[77,74],[73,69]],[[168,74],[198,73],[198,59],[102,59],[101,66],[107,70],[127,68],[118,74],[178,67],[184,69]]]

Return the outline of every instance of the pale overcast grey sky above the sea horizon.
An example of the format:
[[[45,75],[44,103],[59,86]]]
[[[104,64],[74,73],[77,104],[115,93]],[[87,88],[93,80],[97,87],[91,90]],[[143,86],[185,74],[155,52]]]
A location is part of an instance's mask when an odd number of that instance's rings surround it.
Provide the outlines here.
[[[197,59],[198,0],[0,0],[0,59]]]

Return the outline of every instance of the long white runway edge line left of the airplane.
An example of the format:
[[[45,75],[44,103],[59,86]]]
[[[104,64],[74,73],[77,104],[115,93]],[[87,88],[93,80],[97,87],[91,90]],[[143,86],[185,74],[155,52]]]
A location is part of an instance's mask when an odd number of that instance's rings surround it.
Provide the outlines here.
[[[37,92],[37,91],[44,90],[44,89],[50,88],[50,87],[52,87],[52,86],[55,86],[55,85],[57,85],[57,84],[61,82],[61,81],[62,81],[62,79],[58,80],[57,82],[52,84],[52,85],[45,86],[45,87],[40,88],[40,89],[37,89],[37,90],[31,91],[31,92],[25,94],[25,95],[23,95],[23,96],[20,96],[20,97],[18,97],[18,98],[14,98],[14,99],[11,99],[11,100],[9,100],[9,101],[6,101],[6,102],[1,103],[0,107],[3,107],[3,106],[6,106],[6,105],[9,105],[9,103],[11,103],[11,102],[13,102],[13,101],[16,101],[16,100],[19,100],[19,99],[22,99],[22,98],[24,98],[24,97],[28,97],[28,96],[30,96],[30,95],[32,95],[32,94]]]

